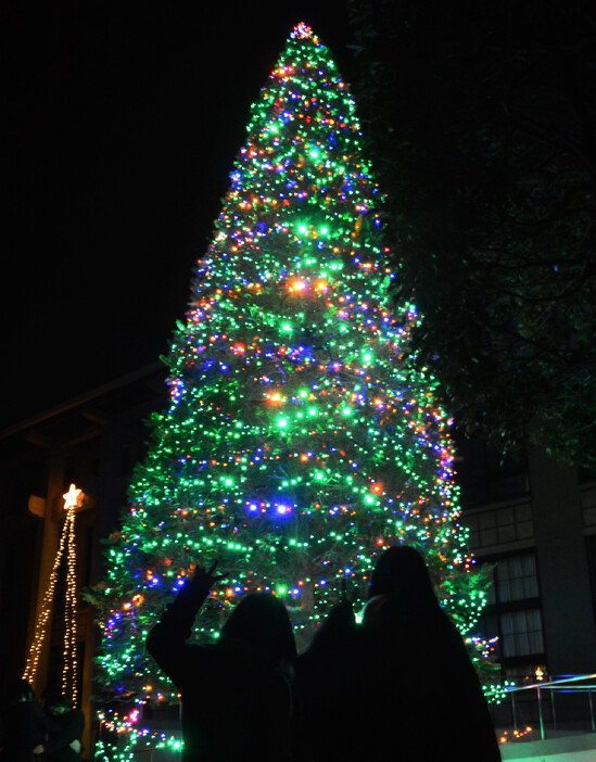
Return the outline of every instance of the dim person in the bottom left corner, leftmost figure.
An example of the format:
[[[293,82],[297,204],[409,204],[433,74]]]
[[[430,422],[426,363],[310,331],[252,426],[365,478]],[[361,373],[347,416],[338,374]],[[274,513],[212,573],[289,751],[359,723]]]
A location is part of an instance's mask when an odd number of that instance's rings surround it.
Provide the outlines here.
[[[35,698],[31,686],[25,680],[16,681],[9,689],[8,706],[2,716],[0,760],[2,762],[33,762],[42,757],[38,750],[51,733],[54,723]]]

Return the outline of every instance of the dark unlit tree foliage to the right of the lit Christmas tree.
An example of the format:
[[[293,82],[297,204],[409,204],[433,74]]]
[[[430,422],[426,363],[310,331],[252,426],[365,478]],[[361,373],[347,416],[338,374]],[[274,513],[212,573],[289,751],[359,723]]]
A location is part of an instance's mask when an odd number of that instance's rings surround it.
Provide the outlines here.
[[[596,461],[596,5],[350,0],[413,345],[467,434]]]

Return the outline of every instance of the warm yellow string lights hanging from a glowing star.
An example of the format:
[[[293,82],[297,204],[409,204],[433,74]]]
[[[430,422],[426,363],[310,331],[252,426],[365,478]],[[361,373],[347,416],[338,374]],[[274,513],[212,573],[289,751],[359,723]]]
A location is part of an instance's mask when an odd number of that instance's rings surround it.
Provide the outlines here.
[[[23,678],[29,683],[35,681],[39,666],[39,658],[41,649],[48,635],[48,625],[52,615],[52,606],[54,600],[55,584],[60,571],[63,557],[66,556],[66,590],[65,590],[65,610],[64,610],[64,648],[63,648],[63,669],[62,669],[62,693],[69,697],[73,706],[77,702],[77,659],[76,659],[76,642],[77,642],[77,601],[76,601],[76,536],[75,536],[75,516],[76,509],[80,507],[83,501],[83,491],[78,490],[74,484],[63,496],[64,510],[66,518],[62,526],[60,543],[54,563],[50,574],[50,581],[41,608],[35,625],[34,639],[27,657]]]

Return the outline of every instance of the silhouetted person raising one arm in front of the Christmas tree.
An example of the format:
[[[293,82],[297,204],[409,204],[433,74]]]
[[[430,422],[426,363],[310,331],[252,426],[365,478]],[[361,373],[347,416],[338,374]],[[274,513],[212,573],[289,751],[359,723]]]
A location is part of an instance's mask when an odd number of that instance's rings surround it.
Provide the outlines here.
[[[189,644],[216,577],[198,567],[147,638],[147,648],[181,694],[183,762],[286,762],[291,758],[296,647],[283,604],[243,598],[215,644]]]

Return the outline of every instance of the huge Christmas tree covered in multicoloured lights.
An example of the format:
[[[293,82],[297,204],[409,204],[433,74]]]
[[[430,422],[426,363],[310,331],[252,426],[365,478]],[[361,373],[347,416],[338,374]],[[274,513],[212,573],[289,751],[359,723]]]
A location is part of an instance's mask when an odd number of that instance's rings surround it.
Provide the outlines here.
[[[452,421],[414,368],[415,306],[391,305],[381,215],[348,88],[299,24],[252,107],[165,359],[170,404],[110,538],[94,594],[107,693],[177,701],[144,639],[215,559],[225,584],[198,640],[271,590],[305,643],[346,583],[364,605],[398,543],[421,550],[464,634],[478,620],[486,585],[457,522]]]

